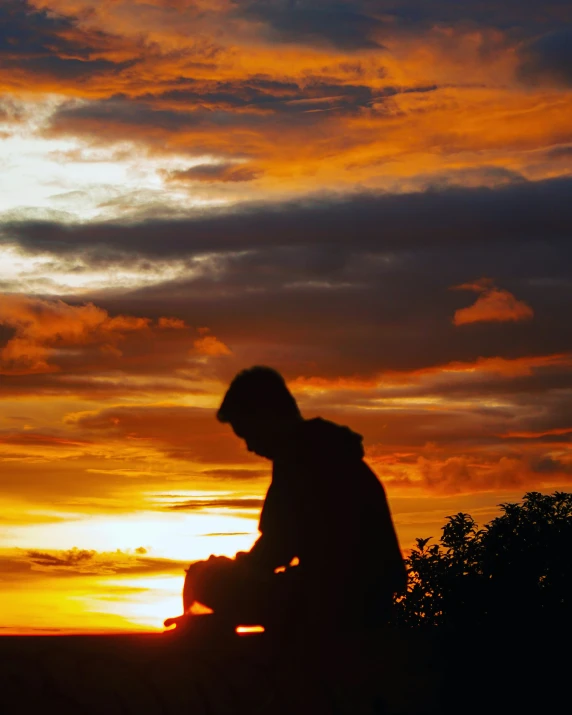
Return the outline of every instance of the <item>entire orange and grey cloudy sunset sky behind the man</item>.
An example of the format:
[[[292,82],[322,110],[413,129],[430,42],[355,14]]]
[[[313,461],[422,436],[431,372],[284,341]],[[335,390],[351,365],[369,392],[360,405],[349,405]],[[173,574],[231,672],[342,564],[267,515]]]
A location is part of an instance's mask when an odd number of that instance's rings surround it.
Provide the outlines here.
[[[249,548],[253,364],[404,551],[571,489],[569,0],[2,0],[0,167],[0,633],[159,628]]]

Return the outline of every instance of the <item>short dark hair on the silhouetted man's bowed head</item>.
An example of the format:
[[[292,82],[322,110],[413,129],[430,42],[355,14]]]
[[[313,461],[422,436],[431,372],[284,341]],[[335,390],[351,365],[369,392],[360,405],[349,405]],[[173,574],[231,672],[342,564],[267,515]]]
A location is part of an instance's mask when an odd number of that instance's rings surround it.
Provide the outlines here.
[[[301,417],[282,375],[262,365],[238,373],[217,412],[219,422],[231,423],[240,418],[271,419],[273,416]]]

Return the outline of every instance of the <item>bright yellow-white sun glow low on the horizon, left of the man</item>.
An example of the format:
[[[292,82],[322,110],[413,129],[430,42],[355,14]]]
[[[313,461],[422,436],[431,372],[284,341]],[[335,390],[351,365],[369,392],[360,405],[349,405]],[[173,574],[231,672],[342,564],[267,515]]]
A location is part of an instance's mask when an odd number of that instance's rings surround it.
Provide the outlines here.
[[[14,572],[0,585],[2,632],[161,629],[182,610],[185,565],[248,550],[255,524],[231,514],[149,513],[9,527],[0,538],[0,559]]]

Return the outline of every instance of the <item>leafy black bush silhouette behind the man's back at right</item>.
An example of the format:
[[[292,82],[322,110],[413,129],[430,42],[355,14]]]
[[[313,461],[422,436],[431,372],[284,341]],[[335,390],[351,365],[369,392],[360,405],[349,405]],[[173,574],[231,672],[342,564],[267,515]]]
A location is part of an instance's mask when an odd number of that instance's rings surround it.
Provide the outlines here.
[[[529,492],[500,505],[478,528],[469,515],[447,517],[439,543],[417,539],[406,565],[407,593],[396,619],[410,627],[546,627],[572,605],[572,494]]]

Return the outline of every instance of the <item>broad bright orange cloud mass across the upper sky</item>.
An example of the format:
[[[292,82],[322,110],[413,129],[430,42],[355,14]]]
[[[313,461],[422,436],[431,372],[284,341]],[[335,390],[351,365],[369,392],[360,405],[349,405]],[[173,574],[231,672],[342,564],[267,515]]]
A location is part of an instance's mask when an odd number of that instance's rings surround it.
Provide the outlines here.
[[[402,190],[567,171],[558,160],[539,163],[535,152],[570,141],[572,98],[521,87],[514,39],[486,22],[446,31],[437,23],[421,34],[389,23],[388,51],[356,55],[303,27],[296,42],[269,41],[264,22],[226,0],[154,0],[136,13],[129,0],[31,4],[61,13],[57,23],[33,12],[20,20],[37,26],[50,50],[38,58],[34,46],[24,47],[1,74],[0,89],[70,97],[49,122],[56,135],[218,159],[218,169],[163,171],[181,190],[190,180],[194,194],[244,197],[253,179],[268,192]],[[364,38],[375,25],[371,18]],[[238,157],[254,168],[235,168]]]

